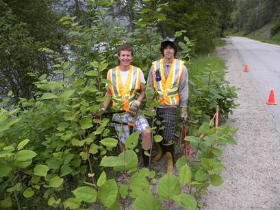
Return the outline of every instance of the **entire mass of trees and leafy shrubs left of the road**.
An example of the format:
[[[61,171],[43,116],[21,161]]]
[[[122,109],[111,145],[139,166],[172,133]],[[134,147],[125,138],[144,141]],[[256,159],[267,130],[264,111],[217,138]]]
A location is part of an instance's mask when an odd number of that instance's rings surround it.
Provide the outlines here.
[[[222,184],[222,146],[236,144],[236,129],[215,127],[212,118],[216,105],[220,120],[236,107],[236,88],[223,78],[225,62],[199,55],[212,52],[216,39],[236,26],[245,2],[1,0],[1,207],[79,209],[97,202],[119,209],[133,202],[133,209],[161,209],[158,200],[168,208],[174,202],[201,207],[201,192]],[[276,12],[270,20],[277,26]],[[92,118],[104,101],[107,69],[118,64],[117,46],[131,43],[133,64],[147,76],[167,36],[177,38],[190,74],[187,140],[195,156],[178,159],[178,177],[137,170],[137,132],[127,153],[114,156],[118,141],[110,119]],[[159,142],[161,122],[153,122]],[[123,174],[118,185],[112,171]],[[159,179],[158,195],[151,196],[149,184]]]

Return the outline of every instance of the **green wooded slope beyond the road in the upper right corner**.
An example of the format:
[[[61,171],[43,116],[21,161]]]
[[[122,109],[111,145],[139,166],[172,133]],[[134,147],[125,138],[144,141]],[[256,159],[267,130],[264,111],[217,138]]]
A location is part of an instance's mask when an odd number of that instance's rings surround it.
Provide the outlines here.
[[[280,2],[238,1],[226,34],[280,44]]]

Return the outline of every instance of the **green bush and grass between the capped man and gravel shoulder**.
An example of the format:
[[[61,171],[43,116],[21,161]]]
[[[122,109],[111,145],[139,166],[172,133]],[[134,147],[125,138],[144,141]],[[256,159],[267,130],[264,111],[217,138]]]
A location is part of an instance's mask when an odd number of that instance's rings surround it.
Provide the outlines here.
[[[216,105],[219,105],[220,120],[227,119],[237,106],[233,101],[237,97],[237,89],[224,80],[225,61],[218,57],[199,57],[188,69],[188,128],[191,133],[196,133],[199,124],[214,116]]]

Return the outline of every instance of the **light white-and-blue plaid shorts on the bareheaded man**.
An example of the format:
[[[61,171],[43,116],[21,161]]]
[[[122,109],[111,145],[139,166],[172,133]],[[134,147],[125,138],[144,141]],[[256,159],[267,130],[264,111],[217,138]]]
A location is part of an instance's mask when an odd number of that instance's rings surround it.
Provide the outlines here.
[[[136,121],[133,121],[132,116],[129,113],[126,114],[114,114],[113,120],[116,120],[118,122],[135,122],[135,127],[133,131],[142,131],[147,130],[149,127],[149,123],[147,119],[144,117],[144,115],[138,111],[138,116],[136,117]],[[114,127],[118,133],[119,140],[123,144],[125,144],[125,141],[127,140],[127,137],[129,137],[130,133],[130,127],[125,124],[116,124],[114,123]]]

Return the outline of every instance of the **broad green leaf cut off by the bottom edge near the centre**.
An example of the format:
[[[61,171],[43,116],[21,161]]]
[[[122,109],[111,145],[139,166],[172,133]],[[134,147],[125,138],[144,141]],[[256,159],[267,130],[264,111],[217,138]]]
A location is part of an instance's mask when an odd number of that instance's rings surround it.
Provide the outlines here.
[[[141,194],[132,205],[133,210],[162,210],[162,204],[151,194]]]

